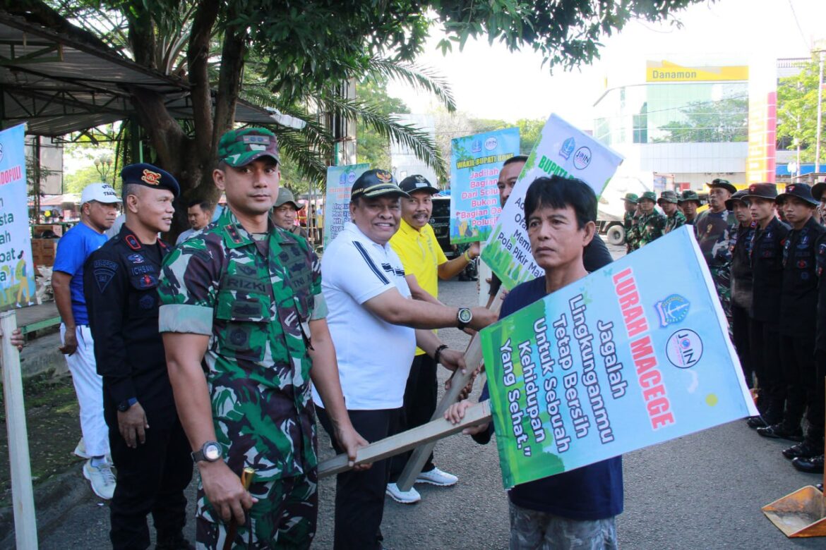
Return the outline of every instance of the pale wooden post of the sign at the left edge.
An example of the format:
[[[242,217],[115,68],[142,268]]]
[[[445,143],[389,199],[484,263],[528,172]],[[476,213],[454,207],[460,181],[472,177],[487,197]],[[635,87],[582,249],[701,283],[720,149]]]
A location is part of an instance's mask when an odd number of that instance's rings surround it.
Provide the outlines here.
[[[35,497],[31,487],[31,462],[29,440],[26,434],[26,406],[23,402],[20,355],[10,340],[15,328],[17,328],[17,315],[14,311],[0,313],[2,389],[6,404],[8,458],[12,470],[14,538],[17,541],[17,548],[37,550]]]

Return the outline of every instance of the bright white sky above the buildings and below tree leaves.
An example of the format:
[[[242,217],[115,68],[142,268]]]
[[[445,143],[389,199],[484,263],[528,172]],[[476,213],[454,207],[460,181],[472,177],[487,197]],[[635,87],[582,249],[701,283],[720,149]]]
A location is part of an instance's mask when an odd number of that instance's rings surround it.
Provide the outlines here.
[[[646,59],[748,64],[760,58],[808,57],[814,40],[826,39],[826,0],[699,2],[676,12],[676,19],[681,28],[631,21],[617,35],[601,40],[600,60],[570,72],[557,68],[551,74],[533,50],[511,53],[503,45],[488,45],[487,39],[468,40],[462,52],[454,45],[445,56],[435,48],[442,38],[435,32],[417,63],[441,73],[458,110],[474,118],[513,122],[545,119],[556,112],[591,129],[591,107],[605,91],[606,76],[637,73],[638,81],[644,81]],[[480,69],[486,68],[491,69],[490,77],[480,82]],[[400,97],[414,113],[438,106],[432,96],[401,83],[391,82],[388,93]]]

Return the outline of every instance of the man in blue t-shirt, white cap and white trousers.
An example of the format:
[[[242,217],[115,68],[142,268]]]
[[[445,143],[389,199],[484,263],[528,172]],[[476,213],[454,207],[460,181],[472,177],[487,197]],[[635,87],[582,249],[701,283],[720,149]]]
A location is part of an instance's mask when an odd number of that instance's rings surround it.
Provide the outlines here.
[[[60,314],[59,347],[66,356],[74,391],[80,405],[81,443],[74,450],[88,458],[83,476],[92,483],[97,496],[111,499],[115,477],[107,461],[109,430],[103,420],[102,378],[97,374],[92,333],[83,296],[83,262],[107,242],[104,232],[112,227],[120,199],[112,186],[93,183],[83,189],[80,198],[80,223],[60,238],[52,268],[52,289]]]

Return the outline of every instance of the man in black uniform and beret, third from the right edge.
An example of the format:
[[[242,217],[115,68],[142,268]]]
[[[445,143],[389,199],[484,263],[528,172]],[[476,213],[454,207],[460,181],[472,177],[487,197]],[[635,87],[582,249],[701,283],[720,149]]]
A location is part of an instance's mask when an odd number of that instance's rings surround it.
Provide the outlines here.
[[[754,183],[748,188],[748,208],[757,222],[750,251],[752,265],[752,364],[757,375],[761,416],[748,419],[752,428],[781,421],[786,390],[780,359],[780,291],[783,283],[783,244],[789,227],[775,215],[777,188]]]

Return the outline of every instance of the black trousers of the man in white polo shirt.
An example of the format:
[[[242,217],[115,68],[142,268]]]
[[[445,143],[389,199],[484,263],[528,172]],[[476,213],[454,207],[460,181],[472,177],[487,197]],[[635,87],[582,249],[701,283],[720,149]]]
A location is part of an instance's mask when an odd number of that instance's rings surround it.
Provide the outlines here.
[[[336,453],[343,453],[335,441],[333,425],[327,411],[316,407],[318,420],[333,441]],[[347,411],[355,430],[370,443],[396,433],[399,409]],[[335,550],[380,550],[384,494],[390,475],[390,460],[373,463],[363,472],[339,473],[335,477]]]

